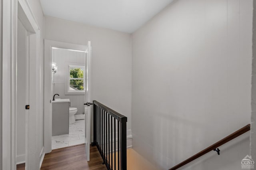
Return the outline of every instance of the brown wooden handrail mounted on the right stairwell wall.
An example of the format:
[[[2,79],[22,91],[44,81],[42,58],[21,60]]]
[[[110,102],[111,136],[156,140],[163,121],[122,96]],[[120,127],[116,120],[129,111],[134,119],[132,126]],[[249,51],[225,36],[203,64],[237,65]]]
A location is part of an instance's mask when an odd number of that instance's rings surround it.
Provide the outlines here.
[[[183,162],[179,163],[178,165],[170,168],[169,170],[176,170],[186,164],[188,164],[189,162],[199,158],[200,156],[203,156],[204,154],[218,148],[219,146],[221,146],[222,144],[225,144],[226,142],[229,142],[230,140],[240,136],[241,134],[244,134],[245,132],[248,132],[250,130],[250,124],[246,125],[245,127],[240,128],[239,130],[237,130],[236,132],[226,136],[225,138],[223,138],[222,140],[219,140],[218,142],[212,144],[211,146],[209,146],[208,148],[205,148],[204,150],[198,152],[197,154],[195,154],[194,156],[191,156],[190,158],[184,160]]]

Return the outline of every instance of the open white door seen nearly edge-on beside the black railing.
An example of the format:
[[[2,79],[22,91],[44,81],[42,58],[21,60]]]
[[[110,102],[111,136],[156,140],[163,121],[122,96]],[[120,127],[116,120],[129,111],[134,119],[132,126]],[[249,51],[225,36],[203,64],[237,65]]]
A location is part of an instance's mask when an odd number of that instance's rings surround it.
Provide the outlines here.
[[[87,161],[90,160],[90,123],[91,123],[91,59],[92,47],[91,42],[87,43],[87,50],[85,56],[85,69],[86,69],[86,89],[84,95],[84,112],[85,112],[85,150]]]

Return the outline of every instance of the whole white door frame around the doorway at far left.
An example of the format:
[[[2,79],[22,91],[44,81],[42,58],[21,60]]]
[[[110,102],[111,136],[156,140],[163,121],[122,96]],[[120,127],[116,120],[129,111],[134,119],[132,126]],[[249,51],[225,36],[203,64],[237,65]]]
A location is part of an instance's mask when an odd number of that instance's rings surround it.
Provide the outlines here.
[[[18,3],[19,18],[32,34],[30,40],[29,99],[30,114],[26,116],[26,170],[39,170],[39,56],[40,28],[27,0],[2,0],[2,169],[16,170],[16,67]]]

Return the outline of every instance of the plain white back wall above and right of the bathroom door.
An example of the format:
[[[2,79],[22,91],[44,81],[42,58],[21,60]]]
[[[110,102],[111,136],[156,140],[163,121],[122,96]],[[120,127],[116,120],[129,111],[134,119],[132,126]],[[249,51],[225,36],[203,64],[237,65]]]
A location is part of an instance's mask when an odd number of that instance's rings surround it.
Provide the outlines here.
[[[92,43],[92,100],[128,117],[131,129],[132,53],[130,34],[45,17],[45,39]]]

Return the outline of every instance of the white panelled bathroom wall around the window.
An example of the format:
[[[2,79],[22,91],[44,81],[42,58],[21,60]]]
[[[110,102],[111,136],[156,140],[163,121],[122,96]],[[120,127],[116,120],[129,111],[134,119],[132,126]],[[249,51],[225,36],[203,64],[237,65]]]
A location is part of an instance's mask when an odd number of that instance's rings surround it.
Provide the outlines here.
[[[61,99],[70,99],[70,107],[76,107],[76,115],[84,113],[84,95],[65,95],[68,65],[84,65],[85,53],[67,49],[52,49],[52,60],[57,63],[58,71],[53,74],[53,95]]]

